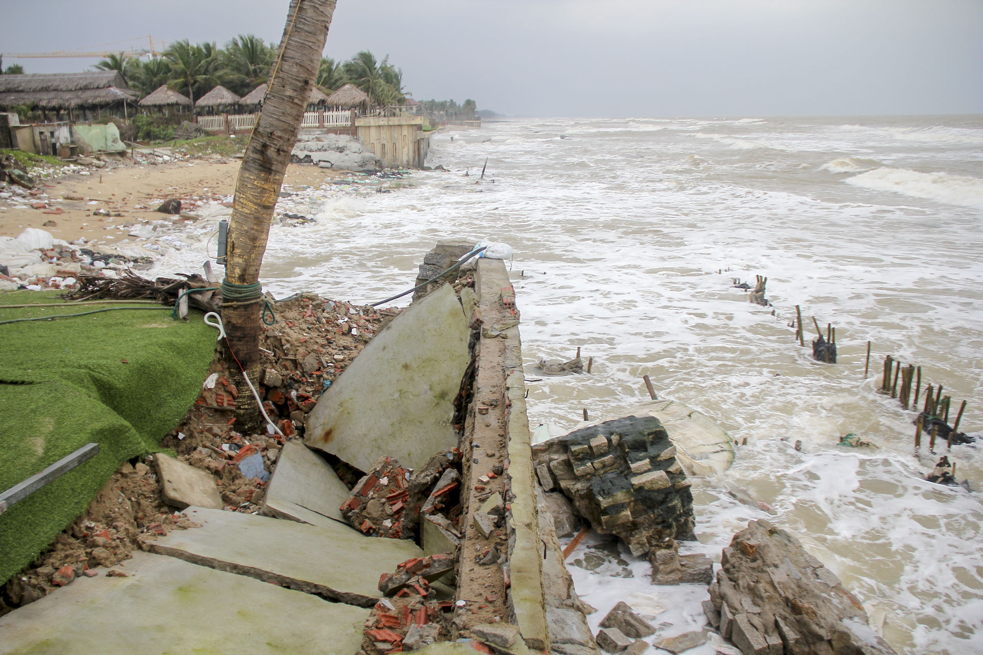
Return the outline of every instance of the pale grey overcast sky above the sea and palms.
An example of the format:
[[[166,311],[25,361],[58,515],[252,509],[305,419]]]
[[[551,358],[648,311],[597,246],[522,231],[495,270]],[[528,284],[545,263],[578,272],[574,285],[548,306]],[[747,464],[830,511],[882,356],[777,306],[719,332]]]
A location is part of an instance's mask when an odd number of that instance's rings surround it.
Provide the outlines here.
[[[0,51],[278,41],[288,4],[3,0]],[[983,0],[339,0],[325,54],[361,49],[417,99],[512,115],[983,113]]]

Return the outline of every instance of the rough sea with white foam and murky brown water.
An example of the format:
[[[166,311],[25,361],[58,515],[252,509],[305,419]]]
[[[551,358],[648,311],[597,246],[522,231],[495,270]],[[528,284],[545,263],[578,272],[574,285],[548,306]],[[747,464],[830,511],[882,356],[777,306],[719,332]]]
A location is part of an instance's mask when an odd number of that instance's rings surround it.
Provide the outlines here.
[[[933,456],[923,440],[916,457],[915,412],[877,393],[893,355],[944,385],[953,415],[967,401],[960,431],[983,430],[983,118],[516,119],[440,130],[428,163],[448,171],[314,193],[316,224],[273,228],[266,288],[375,302],[412,286],[437,240],[508,244],[533,428],[622,414],[649,399],[647,374],[738,444],[694,483],[684,552],[719,559],[749,519],[772,520],[898,652],[983,652],[983,442]],[[184,250],[158,270],[201,261]],[[757,275],[772,306],[734,287]],[[836,364],[811,356],[813,317],[836,327]],[[591,374],[538,375],[578,347]],[[874,447],[838,445],[850,433]],[[924,479],[944,454],[965,485]],[[629,597],[670,631],[705,623],[705,591],[652,586],[607,542],[568,566],[594,624]]]

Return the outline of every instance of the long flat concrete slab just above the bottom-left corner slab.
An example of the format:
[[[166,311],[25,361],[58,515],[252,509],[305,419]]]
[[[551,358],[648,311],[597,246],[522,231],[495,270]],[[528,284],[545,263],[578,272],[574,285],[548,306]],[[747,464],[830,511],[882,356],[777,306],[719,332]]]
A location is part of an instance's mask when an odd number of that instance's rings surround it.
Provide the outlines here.
[[[381,595],[382,573],[423,555],[412,541],[367,537],[334,521],[308,525],[196,507],[184,514],[202,527],[148,542],[150,552],[363,607]]]

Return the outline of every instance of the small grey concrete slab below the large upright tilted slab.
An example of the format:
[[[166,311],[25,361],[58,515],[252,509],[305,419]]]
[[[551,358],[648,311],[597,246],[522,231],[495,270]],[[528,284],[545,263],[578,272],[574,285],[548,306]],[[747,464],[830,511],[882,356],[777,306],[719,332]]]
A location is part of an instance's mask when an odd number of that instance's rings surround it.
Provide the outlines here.
[[[260,514],[313,525],[332,519],[347,525],[341,516],[347,499],[348,487],[322,457],[299,441],[288,441],[280,450]]]

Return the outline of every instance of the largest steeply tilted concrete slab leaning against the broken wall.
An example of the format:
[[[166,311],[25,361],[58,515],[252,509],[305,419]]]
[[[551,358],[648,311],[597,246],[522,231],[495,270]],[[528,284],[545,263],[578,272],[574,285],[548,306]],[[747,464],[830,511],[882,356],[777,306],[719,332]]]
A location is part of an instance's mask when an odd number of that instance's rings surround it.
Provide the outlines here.
[[[469,330],[444,285],[383,327],[308,414],[305,443],[368,470],[387,455],[410,468],[457,446],[453,401]]]

